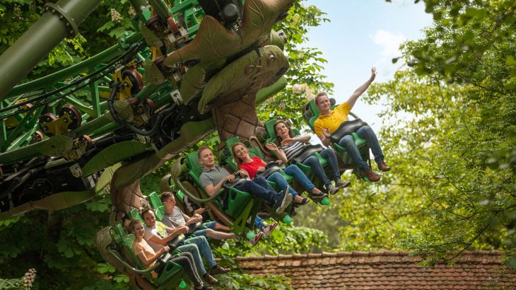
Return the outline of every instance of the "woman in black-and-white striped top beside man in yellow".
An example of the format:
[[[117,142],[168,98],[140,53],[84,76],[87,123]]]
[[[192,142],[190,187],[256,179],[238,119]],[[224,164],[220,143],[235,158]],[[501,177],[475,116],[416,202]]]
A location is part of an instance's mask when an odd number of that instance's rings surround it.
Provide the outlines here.
[[[274,134],[278,144],[281,144],[280,150],[283,151],[283,154],[278,154],[278,158],[280,158],[284,163],[291,163],[293,158],[298,153],[302,152],[307,144],[310,144],[310,139],[312,138],[310,135],[294,136],[291,127],[283,120],[278,120],[274,124]],[[317,157],[308,156],[302,163],[305,166],[310,166],[319,180],[324,182],[326,190],[334,195],[339,191],[339,189],[351,185],[351,182],[344,182],[341,180],[339,161],[337,161],[337,156],[335,155],[332,147],[322,150],[320,154],[328,161],[329,168],[332,170],[333,178],[335,180],[335,186],[332,185],[332,181],[329,180],[326,173],[324,173],[324,168],[322,168],[322,164]]]

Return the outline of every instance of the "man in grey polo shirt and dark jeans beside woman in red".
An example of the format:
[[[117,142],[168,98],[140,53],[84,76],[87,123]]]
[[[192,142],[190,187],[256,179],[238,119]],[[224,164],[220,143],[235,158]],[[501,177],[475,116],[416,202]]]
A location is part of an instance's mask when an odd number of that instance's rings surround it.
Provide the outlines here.
[[[225,168],[220,167],[215,163],[213,152],[208,146],[201,146],[197,153],[199,155],[199,162],[201,162],[203,166],[199,180],[201,180],[201,185],[204,187],[204,190],[206,190],[208,195],[212,196],[218,192],[218,190],[221,190],[224,182],[235,181],[235,175],[230,174],[228,170],[225,170]],[[237,173],[241,177],[248,176],[244,170],[238,170]],[[269,185],[269,182],[262,177],[239,183],[238,185],[235,185],[235,188],[243,192],[248,192],[251,195],[261,197],[266,200],[266,202],[270,202],[274,209],[276,209],[277,214],[281,214],[286,207],[288,207],[288,204],[291,204],[292,202],[292,195],[286,195],[286,192],[276,192],[274,188]]]

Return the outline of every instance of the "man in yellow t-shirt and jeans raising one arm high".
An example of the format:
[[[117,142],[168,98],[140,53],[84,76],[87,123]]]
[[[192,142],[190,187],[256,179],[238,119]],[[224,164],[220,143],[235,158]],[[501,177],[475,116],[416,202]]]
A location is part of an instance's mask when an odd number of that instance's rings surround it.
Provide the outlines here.
[[[315,105],[321,112],[317,120],[314,122],[314,131],[317,134],[317,137],[321,139],[322,144],[328,146],[330,144],[331,134],[339,128],[342,122],[348,120],[348,114],[355,105],[358,97],[362,95],[373,83],[376,77],[376,68],[373,67],[371,69],[371,76],[362,86],[358,87],[353,94],[346,100],[346,102],[341,103],[341,105],[337,106],[334,110],[332,110],[332,104],[329,103],[329,98],[326,93],[318,93],[315,96]],[[378,165],[378,169],[382,171],[389,171],[391,168],[387,166],[384,161],[384,156],[382,153],[382,149],[380,148],[380,144],[378,144],[378,139],[376,137],[375,132],[369,126],[360,127],[357,130],[356,134],[362,137],[363,139],[368,141],[369,148],[373,151],[373,155],[375,156],[375,161]],[[351,135],[346,135],[342,137],[339,141],[339,146],[346,148],[349,155],[353,159],[353,162],[356,163],[357,167],[363,171],[365,177],[367,177],[370,181],[376,182],[380,180],[380,175],[377,175],[371,168],[368,166],[368,163],[362,160],[360,156],[360,152],[356,147],[355,141],[353,141],[353,137]]]

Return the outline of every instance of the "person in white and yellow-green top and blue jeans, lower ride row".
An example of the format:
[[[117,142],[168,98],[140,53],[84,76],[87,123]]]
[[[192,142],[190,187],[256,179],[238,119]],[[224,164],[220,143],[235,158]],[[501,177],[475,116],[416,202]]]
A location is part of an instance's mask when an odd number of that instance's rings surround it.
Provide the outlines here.
[[[155,251],[163,248],[163,246],[167,245],[171,240],[180,234],[188,233],[189,231],[187,226],[169,228],[162,222],[156,221],[156,214],[151,208],[143,210],[141,212],[141,216],[143,217],[143,221],[146,225],[143,238],[145,238],[147,243]],[[188,244],[180,245],[177,247],[177,250],[180,250],[181,252],[192,253],[197,271],[199,271],[204,280],[209,284],[218,283],[217,279],[213,278],[211,275],[223,274],[230,271],[230,269],[225,269],[217,265],[217,262],[213,257],[213,253],[211,252],[208,240],[206,240],[204,236],[188,238],[187,240],[184,240],[184,243]],[[206,272],[206,269],[202,263],[201,255],[204,257],[204,259],[206,259],[206,263],[210,268],[210,272]]]

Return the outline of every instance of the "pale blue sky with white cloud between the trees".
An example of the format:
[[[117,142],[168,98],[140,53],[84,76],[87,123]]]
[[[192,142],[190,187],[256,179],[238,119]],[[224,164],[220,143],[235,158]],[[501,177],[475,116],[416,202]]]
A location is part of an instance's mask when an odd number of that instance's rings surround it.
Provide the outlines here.
[[[335,84],[333,97],[337,103],[347,100],[367,81],[372,66],[378,71],[375,82],[393,79],[401,65],[391,62],[401,56],[399,44],[423,37],[421,30],[432,23],[423,1],[308,0],[304,4],[317,6],[331,21],[311,28],[306,46],[319,48],[328,60],[322,74]],[[382,122],[376,114],[381,109],[381,104],[366,105],[359,99],[353,112],[378,132]]]

